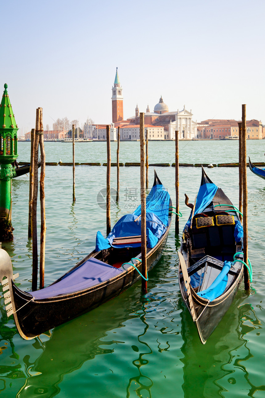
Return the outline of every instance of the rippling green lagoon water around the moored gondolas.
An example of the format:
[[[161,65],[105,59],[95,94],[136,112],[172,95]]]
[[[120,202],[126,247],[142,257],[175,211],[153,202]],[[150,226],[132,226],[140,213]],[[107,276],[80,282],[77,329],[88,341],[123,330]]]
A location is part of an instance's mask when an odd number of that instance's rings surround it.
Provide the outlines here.
[[[30,157],[30,144],[19,142],[19,161]],[[111,143],[112,162],[116,143]],[[45,143],[46,161],[71,162],[72,145]],[[252,162],[263,161],[264,141],[248,141]],[[238,142],[180,142],[180,162],[236,162]],[[106,162],[106,143],[75,144],[77,162]],[[120,162],[139,162],[139,142],[121,142]],[[174,142],[149,142],[149,162],[174,162]],[[175,169],[156,168],[174,203]],[[207,169],[209,177],[238,205],[238,168]],[[180,168],[182,230],[194,201],[200,168]],[[149,187],[153,171],[149,169]],[[105,234],[105,210],[97,195],[106,184],[106,167],[75,168],[76,203],[72,204],[72,168],[46,167],[45,285],[52,283],[95,248],[97,230]],[[111,169],[116,187],[116,168]],[[29,178],[12,182],[14,242],[2,247],[12,257],[21,289],[31,289],[31,242],[27,238]],[[250,293],[240,286],[236,299],[201,345],[182,303],[176,249],[169,232],[166,250],[149,274],[148,294],[141,283],[118,297],[39,338],[23,340],[7,319],[1,294],[0,394],[7,398],[58,397],[265,397],[264,218],[265,182],[248,170]],[[139,203],[139,168],[120,168],[120,203],[112,203],[112,225]],[[174,223],[173,223],[174,224]],[[11,317],[12,318],[12,317]]]

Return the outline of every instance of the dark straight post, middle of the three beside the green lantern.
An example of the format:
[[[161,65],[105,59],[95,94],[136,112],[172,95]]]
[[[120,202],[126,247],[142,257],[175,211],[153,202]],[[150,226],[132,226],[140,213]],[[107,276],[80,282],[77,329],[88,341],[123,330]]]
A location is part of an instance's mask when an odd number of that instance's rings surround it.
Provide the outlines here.
[[[32,197],[32,290],[37,290],[38,283],[38,241],[37,241],[37,199],[38,199],[38,158],[40,137],[40,114],[36,109],[36,127],[34,141],[34,163],[33,163],[33,197]]]

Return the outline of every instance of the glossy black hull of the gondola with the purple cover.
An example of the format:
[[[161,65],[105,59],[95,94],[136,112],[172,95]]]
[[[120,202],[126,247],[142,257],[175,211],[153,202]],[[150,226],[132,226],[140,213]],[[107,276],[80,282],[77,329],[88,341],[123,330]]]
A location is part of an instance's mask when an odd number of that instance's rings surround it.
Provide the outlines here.
[[[159,261],[168,237],[168,229],[157,245],[148,252],[147,271],[150,271],[157,261]],[[94,252],[91,253],[83,261],[89,257],[94,257],[95,254]],[[137,268],[141,271],[140,263],[137,265]],[[15,310],[20,308],[14,314],[17,329],[23,338],[32,339],[55,326],[64,324],[96,308],[128,289],[139,279],[141,279],[139,273],[135,268],[130,267],[118,277],[109,279],[85,291],[34,301],[29,301],[32,299],[32,295],[21,291],[12,281]]]

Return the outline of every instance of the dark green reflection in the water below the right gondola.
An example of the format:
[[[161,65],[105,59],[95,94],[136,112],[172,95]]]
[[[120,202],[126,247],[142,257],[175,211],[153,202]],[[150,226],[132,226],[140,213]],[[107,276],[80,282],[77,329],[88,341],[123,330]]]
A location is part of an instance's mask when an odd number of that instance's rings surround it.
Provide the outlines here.
[[[257,390],[265,390],[264,385],[253,385],[246,367],[242,365],[243,361],[253,357],[248,348],[246,335],[262,327],[250,304],[240,306],[245,297],[244,291],[238,292],[236,300],[205,345],[199,342],[190,313],[184,304],[181,304],[183,306],[180,314],[181,333],[184,340],[181,348],[183,353],[181,361],[184,363],[182,389],[185,398],[193,395],[224,397],[223,393],[232,388],[229,385],[236,384],[236,380],[240,382],[241,375],[238,374],[238,369],[244,372],[249,385],[248,396],[253,397]],[[246,349],[246,355],[242,356],[242,351]],[[250,364],[249,366],[251,367]],[[230,394],[231,392],[232,390]]]

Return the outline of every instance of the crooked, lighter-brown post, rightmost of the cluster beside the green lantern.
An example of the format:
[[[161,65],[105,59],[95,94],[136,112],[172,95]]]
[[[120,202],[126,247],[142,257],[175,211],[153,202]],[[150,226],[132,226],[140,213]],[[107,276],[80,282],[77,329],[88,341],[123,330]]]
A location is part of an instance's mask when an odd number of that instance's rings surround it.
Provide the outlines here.
[[[40,109],[40,151],[41,151],[41,178],[40,178],[40,201],[41,201],[41,248],[40,248],[40,289],[44,288],[44,263],[45,263],[45,240],[46,240],[46,220],[45,220],[45,151],[43,139],[43,109]]]

